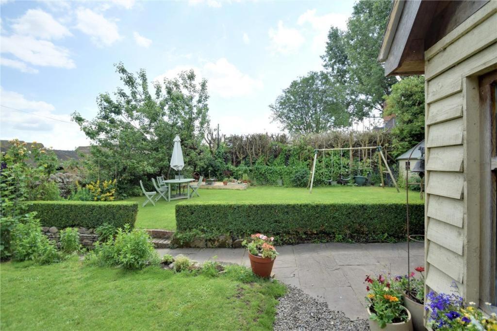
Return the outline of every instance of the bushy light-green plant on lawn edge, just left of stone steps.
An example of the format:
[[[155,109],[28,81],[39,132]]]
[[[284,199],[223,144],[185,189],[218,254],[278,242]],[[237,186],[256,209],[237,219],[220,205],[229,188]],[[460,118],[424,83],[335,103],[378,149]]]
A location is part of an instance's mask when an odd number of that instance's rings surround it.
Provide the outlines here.
[[[159,264],[159,256],[145,230],[129,227],[118,229],[116,238],[96,243],[93,251],[85,256],[85,263],[95,266],[122,266],[125,269],[143,269]]]

